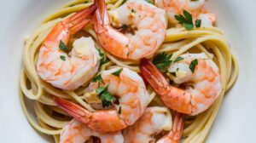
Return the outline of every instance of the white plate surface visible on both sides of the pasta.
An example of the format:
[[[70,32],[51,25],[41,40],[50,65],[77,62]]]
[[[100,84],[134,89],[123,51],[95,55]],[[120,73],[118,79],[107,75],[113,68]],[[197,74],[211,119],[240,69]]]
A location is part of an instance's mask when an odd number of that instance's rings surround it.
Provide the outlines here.
[[[0,9],[0,142],[48,142],[27,123],[20,109],[18,85],[23,38],[67,0],[8,0]],[[224,98],[207,142],[254,142],[256,127],[256,1],[208,0],[236,54],[240,73]]]

